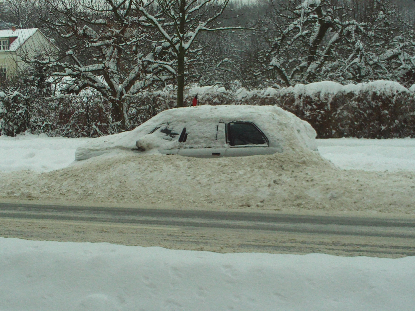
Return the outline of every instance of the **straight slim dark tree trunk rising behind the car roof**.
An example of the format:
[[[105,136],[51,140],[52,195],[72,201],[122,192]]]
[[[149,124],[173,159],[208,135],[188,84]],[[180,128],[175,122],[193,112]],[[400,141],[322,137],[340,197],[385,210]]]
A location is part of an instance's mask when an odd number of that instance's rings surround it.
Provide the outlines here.
[[[179,50],[177,54],[177,105],[176,107],[184,107],[184,56],[186,51],[183,46],[184,27],[186,25],[186,0],[180,1],[180,24],[179,32],[182,36],[180,40]]]

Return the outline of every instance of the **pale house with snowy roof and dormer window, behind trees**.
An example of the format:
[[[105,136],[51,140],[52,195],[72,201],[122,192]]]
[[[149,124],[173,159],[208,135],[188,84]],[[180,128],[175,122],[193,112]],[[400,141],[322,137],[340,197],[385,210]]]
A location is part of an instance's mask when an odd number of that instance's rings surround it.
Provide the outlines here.
[[[57,51],[59,49],[38,28],[0,30],[0,80],[24,70],[25,58]]]

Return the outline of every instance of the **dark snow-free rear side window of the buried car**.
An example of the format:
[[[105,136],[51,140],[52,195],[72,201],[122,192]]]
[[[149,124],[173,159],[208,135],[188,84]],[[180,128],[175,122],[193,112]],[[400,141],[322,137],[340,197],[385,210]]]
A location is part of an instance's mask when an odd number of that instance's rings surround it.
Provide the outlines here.
[[[228,123],[226,130],[230,146],[268,145],[265,135],[251,122]]]

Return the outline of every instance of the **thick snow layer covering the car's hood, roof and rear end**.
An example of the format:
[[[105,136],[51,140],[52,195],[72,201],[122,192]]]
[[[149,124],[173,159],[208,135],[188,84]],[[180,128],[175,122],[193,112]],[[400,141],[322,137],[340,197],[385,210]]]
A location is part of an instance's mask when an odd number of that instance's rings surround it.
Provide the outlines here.
[[[306,121],[296,117],[276,106],[249,106],[249,105],[202,105],[198,107],[183,107],[165,110],[155,117],[144,122],[136,129],[120,134],[95,138],[76,150],[76,160],[85,160],[94,156],[103,155],[120,150],[136,148],[136,141],[146,145],[146,150],[178,148],[176,140],[157,140],[150,133],[161,126],[176,122],[196,126],[215,125],[217,122],[250,121],[254,122],[270,139],[278,142],[283,151],[296,151],[304,148],[317,150],[316,133]],[[186,126],[186,125],[184,125]],[[200,146],[208,146],[207,137],[200,135]],[[155,150],[156,151],[156,150]]]

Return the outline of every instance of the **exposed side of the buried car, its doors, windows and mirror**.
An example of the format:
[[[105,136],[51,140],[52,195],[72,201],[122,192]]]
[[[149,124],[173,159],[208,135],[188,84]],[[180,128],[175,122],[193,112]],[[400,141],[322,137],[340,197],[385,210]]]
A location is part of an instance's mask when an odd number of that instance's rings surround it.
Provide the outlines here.
[[[161,154],[199,158],[244,156],[282,152],[278,141],[270,141],[252,121],[171,121],[156,126],[136,142],[139,151],[157,148]],[[156,146],[156,147],[154,147]]]

